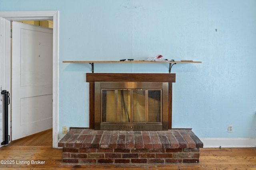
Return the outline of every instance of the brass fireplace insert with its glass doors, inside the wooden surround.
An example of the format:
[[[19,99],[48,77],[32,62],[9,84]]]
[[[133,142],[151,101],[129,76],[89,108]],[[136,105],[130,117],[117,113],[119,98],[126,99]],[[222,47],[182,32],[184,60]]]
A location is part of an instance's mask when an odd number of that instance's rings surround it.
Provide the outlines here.
[[[168,129],[168,82],[95,82],[100,130]]]

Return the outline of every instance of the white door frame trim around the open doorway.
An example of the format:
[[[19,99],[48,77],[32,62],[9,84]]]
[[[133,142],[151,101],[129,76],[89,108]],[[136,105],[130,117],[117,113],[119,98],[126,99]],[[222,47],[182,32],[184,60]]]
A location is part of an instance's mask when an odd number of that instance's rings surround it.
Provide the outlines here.
[[[52,147],[58,148],[59,11],[0,11],[0,17],[10,21],[53,20]]]

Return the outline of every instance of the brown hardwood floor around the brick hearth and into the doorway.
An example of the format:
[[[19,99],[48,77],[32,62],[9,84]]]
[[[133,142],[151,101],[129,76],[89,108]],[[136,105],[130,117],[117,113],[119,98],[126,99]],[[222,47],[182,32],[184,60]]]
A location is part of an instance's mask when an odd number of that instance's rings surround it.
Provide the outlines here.
[[[62,162],[62,149],[52,148],[52,130],[13,141],[0,148],[1,169],[86,170],[256,170],[256,148],[200,149],[198,164],[76,165]],[[36,162],[40,161],[40,162]],[[2,163],[3,162],[3,163]],[[6,163],[6,164],[4,164]],[[7,164],[8,163],[8,164]],[[34,163],[34,164],[33,164]],[[36,164],[42,163],[42,164]]]

